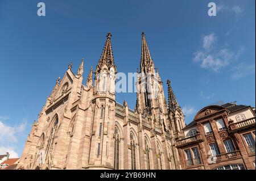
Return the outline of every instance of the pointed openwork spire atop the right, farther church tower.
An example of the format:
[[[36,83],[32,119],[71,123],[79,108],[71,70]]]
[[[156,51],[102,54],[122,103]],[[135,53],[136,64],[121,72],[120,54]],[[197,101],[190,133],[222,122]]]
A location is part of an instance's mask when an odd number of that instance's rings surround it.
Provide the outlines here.
[[[148,49],[145,33],[142,32],[142,47],[141,47],[141,72],[153,73],[155,71],[154,62]]]

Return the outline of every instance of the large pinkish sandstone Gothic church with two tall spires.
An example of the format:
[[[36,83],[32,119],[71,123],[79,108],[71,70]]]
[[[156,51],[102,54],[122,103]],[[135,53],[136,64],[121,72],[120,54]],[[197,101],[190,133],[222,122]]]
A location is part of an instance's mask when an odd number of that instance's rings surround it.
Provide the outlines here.
[[[57,79],[32,125],[17,169],[181,169],[176,140],[184,137],[185,123],[170,81],[167,102],[142,33],[136,107],[119,104],[111,36],[108,33],[86,85],[84,60],[76,74],[70,64]]]

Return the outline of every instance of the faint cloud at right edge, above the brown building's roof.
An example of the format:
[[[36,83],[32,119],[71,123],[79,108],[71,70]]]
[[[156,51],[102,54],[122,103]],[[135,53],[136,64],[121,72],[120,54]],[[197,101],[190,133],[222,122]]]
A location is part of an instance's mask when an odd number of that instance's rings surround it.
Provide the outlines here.
[[[246,77],[247,75],[255,74],[255,64],[238,64],[233,68],[232,79],[240,79]]]

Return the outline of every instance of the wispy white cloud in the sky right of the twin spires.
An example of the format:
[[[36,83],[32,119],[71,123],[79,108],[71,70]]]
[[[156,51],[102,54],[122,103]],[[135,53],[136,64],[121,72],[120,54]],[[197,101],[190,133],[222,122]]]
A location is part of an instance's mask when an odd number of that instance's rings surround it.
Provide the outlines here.
[[[230,62],[237,60],[240,54],[244,51],[244,47],[240,47],[237,53],[228,48],[217,50],[217,37],[214,33],[203,36],[203,45],[200,50],[193,54],[193,61],[199,62],[201,68],[212,69],[219,72],[222,68],[229,65]]]

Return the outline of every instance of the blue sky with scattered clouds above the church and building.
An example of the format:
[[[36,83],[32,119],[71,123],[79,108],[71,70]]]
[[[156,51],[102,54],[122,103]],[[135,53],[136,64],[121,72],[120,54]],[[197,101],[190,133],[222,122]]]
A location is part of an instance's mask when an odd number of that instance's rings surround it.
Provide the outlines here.
[[[0,154],[20,156],[32,122],[70,61],[85,76],[112,32],[119,72],[135,72],[141,32],[167,95],[171,79],[186,123],[222,100],[255,106],[255,1],[0,1]],[[215,2],[217,16],[208,16]],[[134,108],[136,95],[122,93]]]

